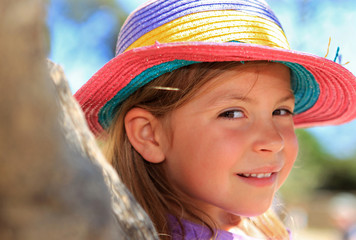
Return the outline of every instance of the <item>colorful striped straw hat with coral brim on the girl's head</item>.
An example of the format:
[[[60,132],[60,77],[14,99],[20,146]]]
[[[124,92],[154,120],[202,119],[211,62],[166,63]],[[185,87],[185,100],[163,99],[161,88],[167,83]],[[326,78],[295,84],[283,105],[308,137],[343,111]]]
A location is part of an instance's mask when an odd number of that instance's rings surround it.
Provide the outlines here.
[[[263,0],[150,0],[126,20],[116,57],[75,94],[90,129],[108,128],[115,109],[158,76],[197,62],[274,61],[291,69],[296,127],[356,118],[356,78],[325,58],[290,50]]]

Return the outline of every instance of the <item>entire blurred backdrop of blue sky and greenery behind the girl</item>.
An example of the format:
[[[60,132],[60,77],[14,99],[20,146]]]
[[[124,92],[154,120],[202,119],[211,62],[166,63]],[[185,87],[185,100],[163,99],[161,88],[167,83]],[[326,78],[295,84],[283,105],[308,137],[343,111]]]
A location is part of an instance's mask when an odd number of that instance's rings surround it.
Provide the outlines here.
[[[114,57],[121,25],[143,2],[49,0],[49,58],[64,68],[73,93]],[[292,49],[334,60],[340,47],[335,61],[356,74],[356,1],[267,2]],[[295,239],[345,239],[356,222],[356,121],[297,134],[300,154],[276,206]]]

